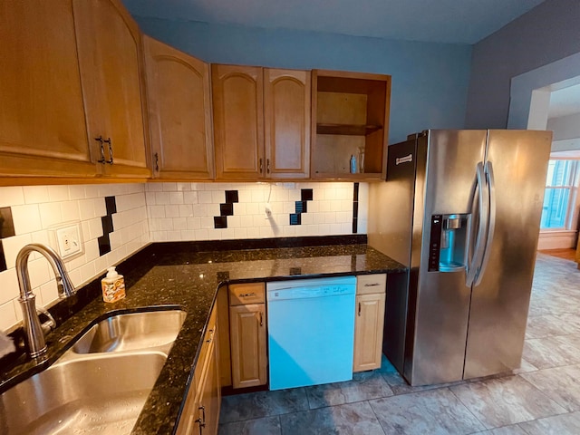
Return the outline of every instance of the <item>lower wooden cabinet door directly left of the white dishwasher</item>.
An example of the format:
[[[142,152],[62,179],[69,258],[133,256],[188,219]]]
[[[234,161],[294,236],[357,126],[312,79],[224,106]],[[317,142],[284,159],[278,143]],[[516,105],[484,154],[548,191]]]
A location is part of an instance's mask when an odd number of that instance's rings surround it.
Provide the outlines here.
[[[229,307],[234,388],[266,384],[266,305]]]

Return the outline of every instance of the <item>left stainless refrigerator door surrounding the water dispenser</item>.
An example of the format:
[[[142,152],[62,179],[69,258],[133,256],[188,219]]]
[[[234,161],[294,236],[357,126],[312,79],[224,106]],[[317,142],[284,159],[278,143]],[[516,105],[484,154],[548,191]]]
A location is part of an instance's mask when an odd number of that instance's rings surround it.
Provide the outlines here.
[[[486,131],[430,131],[425,185],[415,197],[424,207],[411,259],[411,280],[415,275],[417,282],[414,289],[410,283],[409,320],[414,331],[411,335],[408,329],[408,338],[414,343],[405,351],[404,374],[412,385],[458,381],[463,375],[470,288],[465,270],[428,271],[430,226],[433,215],[471,211],[476,167],[484,160],[485,143]]]

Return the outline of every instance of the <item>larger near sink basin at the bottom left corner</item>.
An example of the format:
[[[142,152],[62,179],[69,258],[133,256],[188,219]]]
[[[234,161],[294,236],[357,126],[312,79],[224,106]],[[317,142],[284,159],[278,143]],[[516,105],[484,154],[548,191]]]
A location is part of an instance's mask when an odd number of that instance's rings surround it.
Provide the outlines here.
[[[130,433],[165,360],[125,353],[56,362],[0,396],[0,432]]]

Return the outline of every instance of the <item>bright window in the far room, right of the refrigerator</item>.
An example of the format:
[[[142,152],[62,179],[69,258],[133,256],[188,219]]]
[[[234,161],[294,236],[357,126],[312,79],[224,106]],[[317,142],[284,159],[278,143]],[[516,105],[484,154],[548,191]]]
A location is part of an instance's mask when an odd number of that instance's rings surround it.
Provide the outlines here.
[[[578,160],[550,160],[542,209],[542,229],[571,229]]]

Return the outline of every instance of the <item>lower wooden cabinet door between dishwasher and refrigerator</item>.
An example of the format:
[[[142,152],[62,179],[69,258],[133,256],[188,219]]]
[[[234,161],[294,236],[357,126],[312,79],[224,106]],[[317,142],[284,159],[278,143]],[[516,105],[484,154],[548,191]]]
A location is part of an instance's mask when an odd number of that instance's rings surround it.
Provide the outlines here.
[[[353,372],[381,367],[385,294],[357,295]]]

